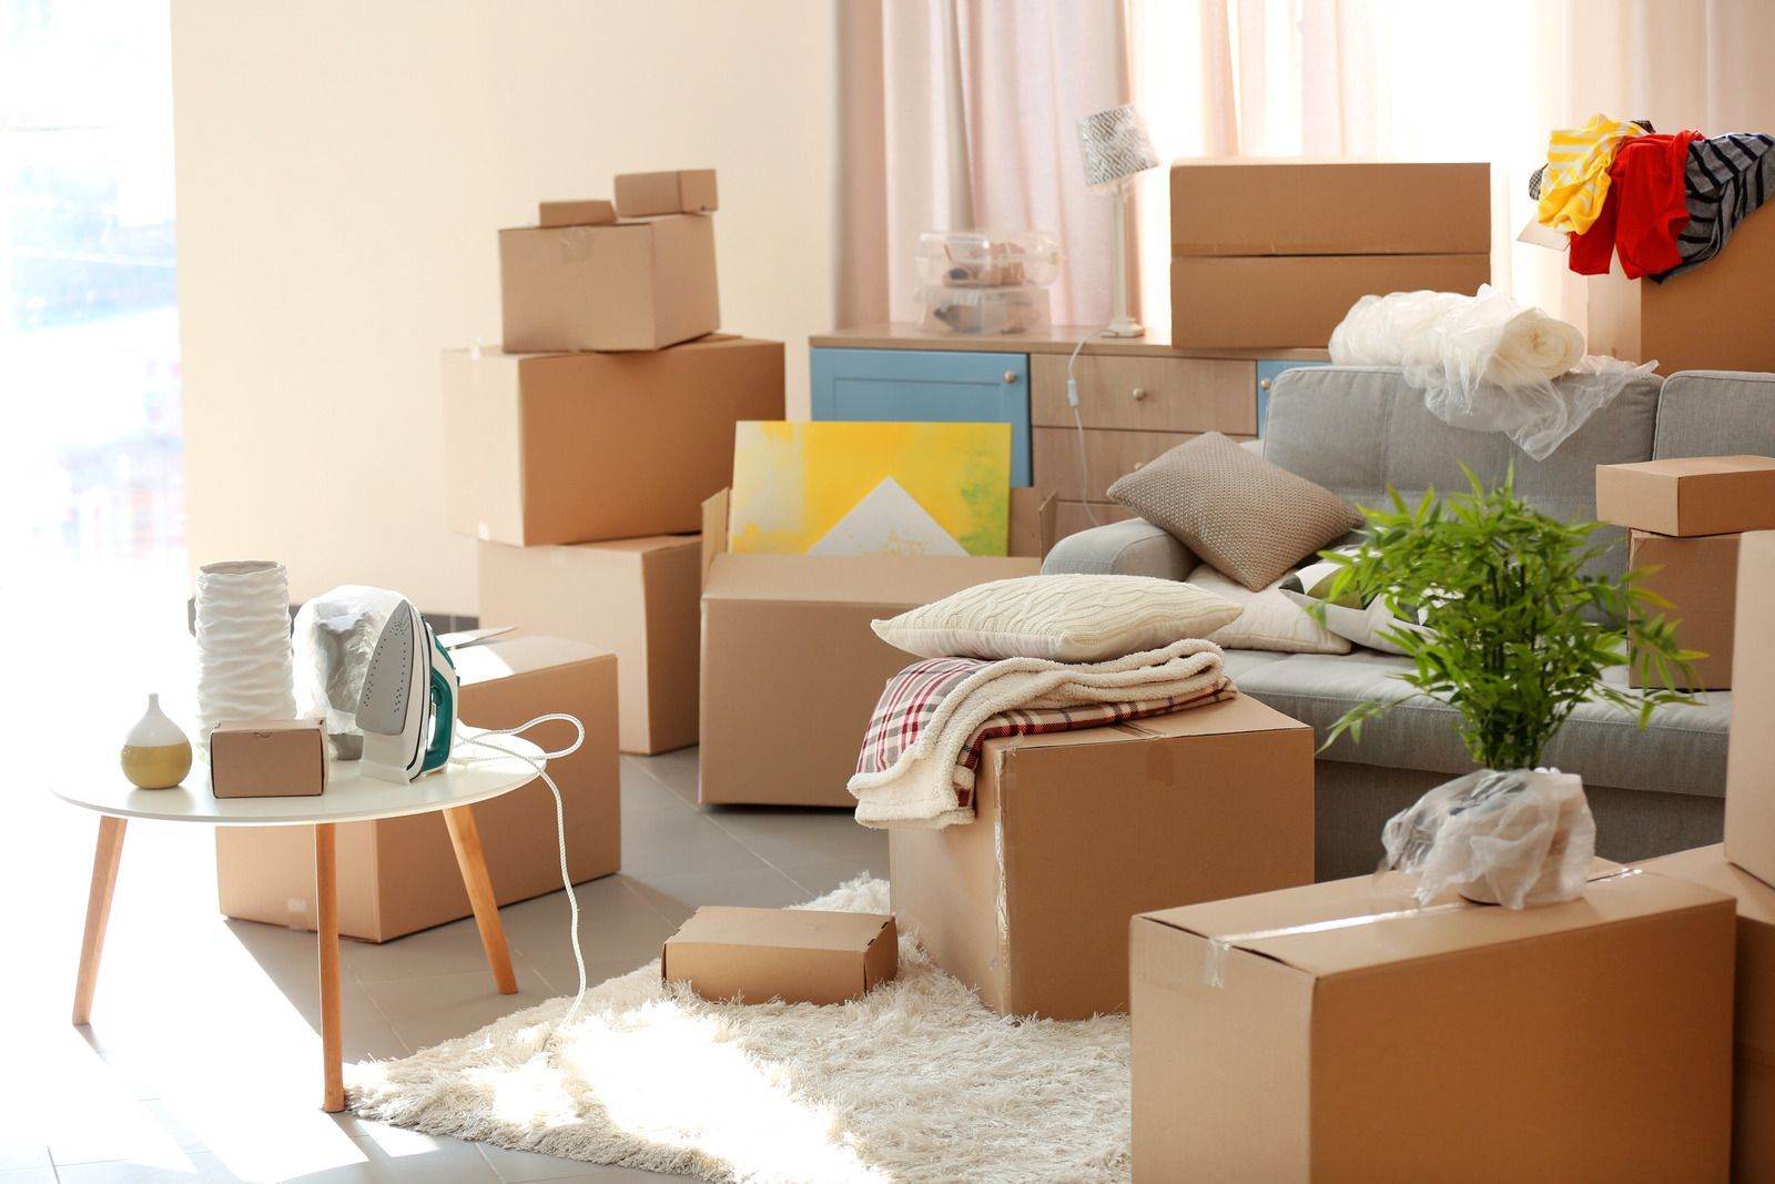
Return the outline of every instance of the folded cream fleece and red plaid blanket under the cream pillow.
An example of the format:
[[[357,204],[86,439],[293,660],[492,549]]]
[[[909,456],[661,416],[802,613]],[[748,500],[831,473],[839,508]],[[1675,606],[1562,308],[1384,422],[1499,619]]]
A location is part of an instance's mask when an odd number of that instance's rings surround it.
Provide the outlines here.
[[[1069,731],[1232,698],[1219,646],[1184,639],[1108,662],[927,659],[888,682],[850,793],[870,827],[973,822],[996,737]]]

